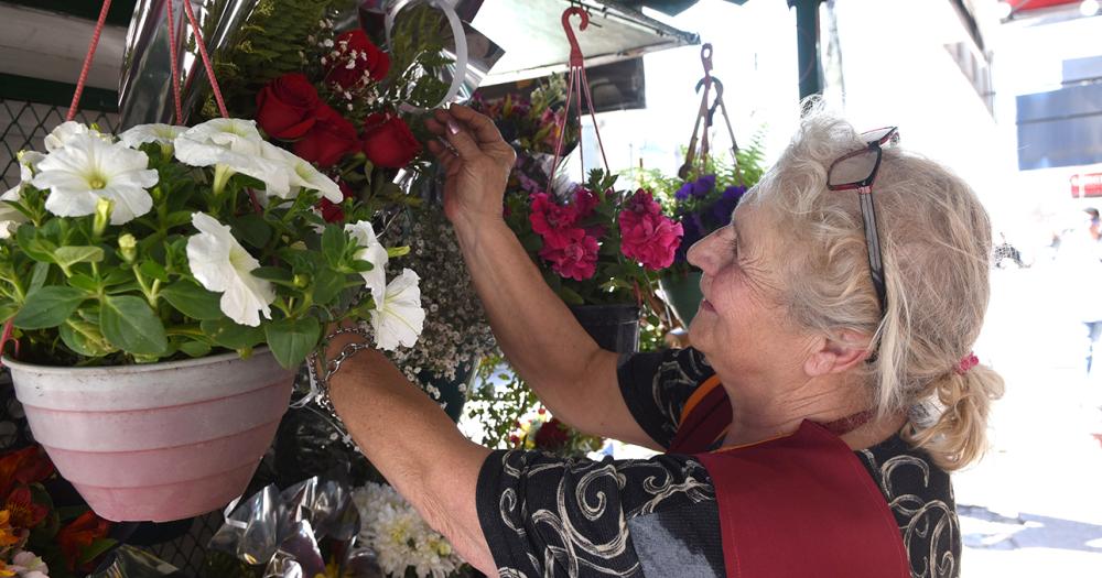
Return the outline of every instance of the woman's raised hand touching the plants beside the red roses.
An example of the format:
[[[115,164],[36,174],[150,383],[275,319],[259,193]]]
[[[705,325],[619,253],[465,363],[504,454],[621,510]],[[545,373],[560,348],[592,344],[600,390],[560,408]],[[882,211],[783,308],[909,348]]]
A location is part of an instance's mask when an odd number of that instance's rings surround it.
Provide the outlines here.
[[[436,110],[425,128],[441,137],[429,142],[429,151],[444,167],[444,215],[453,225],[475,225],[500,219],[505,186],[517,153],[498,132],[494,121],[462,105]]]

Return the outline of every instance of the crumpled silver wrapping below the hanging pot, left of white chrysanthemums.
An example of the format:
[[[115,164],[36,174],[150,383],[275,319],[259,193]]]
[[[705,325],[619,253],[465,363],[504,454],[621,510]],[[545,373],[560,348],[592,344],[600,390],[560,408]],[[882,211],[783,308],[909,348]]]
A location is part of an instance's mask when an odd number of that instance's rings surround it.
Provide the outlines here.
[[[359,512],[352,488],[310,478],[280,492],[269,486],[238,504],[210,538],[204,575],[299,578],[327,575],[381,577],[370,557],[355,552]]]

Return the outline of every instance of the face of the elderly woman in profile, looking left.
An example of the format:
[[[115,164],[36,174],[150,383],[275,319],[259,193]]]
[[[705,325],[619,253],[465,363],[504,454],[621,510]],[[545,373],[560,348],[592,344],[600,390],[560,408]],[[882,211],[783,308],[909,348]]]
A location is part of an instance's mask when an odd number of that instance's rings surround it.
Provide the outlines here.
[[[763,209],[742,206],[731,225],[700,240],[689,262],[701,269],[704,299],[689,328],[693,347],[739,379],[802,364],[810,336],[778,301],[779,235]]]

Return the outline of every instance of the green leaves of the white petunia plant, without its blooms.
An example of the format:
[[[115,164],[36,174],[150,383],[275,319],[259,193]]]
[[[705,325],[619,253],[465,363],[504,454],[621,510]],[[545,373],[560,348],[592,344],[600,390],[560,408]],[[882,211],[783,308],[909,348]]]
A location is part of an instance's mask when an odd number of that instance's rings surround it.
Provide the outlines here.
[[[21,185],[14,205],[30,221],[0,239],[0,323],[13,327],[21,359],[127,364],[226,350],[246,356],[267,343],[290,369],[318,345],[324,324],[369,315],[374,302],[358,294],[360,272],[371,264],[356,258],[360,248],[342,225],[314,212],[316,192],[269,196],[260,208],[251,196],[263,196],[264,185],[256,179],[235,174],[215,192],[213,167],[186,167],[156,144],[142,151],[159,176],[153,209],[123,225],[107,225],[107,215],[55,216],[45,210],[44,190]],[[247,273],[274,293],[271,318],[259,326],[230,319],[222,293],[195,277],[187,248],[199,232],[196,212],[228,223],[263,265]],[[368,214],[349,200],[346,216],[352,222]]]

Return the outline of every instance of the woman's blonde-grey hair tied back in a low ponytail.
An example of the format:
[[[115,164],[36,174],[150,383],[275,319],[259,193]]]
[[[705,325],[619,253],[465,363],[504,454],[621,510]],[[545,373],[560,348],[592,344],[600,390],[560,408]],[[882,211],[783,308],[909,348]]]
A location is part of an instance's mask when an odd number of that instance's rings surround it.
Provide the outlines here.
[[[986,447],[1003,380],[971,355],[987,308],[991,226],[971,187],[940,164],[884,149],[873,198],[887,312],[869,279],[857,193],[827,188],[827,172],[864,145],[847,122],[809,102],[800,129],[744,203],[766,208],[785,252],[780,299],[804,327],[873,336],[863,371],[879,415],[907,412],[904,437],[948,470]]]

